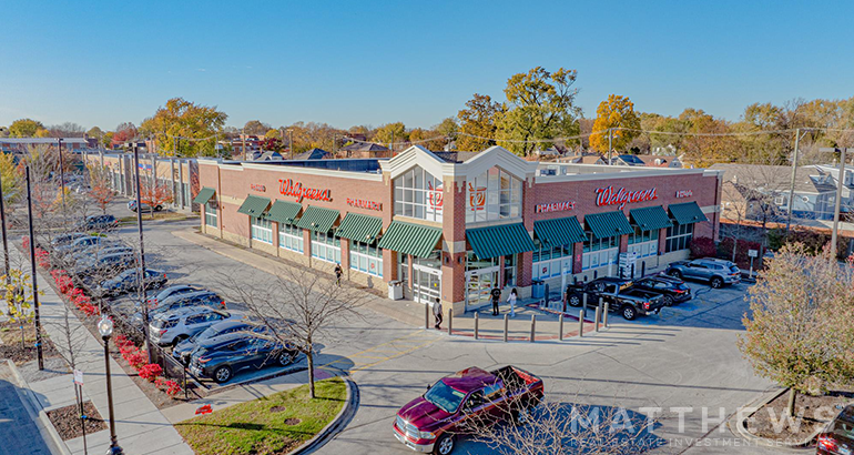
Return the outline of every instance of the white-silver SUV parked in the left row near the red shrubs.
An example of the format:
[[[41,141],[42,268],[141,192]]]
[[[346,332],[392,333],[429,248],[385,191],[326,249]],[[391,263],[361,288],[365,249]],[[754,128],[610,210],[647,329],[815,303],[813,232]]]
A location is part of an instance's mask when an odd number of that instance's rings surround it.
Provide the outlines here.
[[[241,317],[210,306],[184,306],[155,315],[149,324],[149,334],[152,343],[174,346],[217,322]]]

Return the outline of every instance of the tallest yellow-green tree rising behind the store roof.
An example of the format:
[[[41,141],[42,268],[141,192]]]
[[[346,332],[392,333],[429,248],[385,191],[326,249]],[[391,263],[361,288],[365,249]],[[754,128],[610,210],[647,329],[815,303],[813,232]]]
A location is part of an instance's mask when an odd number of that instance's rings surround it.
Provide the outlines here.
[[[578,134],[577,74],[565,68],[551,72],[537,67],[510,77],[505,89],[508,109],[496,122],[498,143],[528,156],[543,141]]]

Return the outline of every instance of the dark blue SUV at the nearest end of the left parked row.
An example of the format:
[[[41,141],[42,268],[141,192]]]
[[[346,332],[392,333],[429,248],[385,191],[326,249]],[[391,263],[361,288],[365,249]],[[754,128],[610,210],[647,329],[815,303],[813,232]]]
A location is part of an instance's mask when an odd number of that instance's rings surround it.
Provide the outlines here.
[[[286,366],[296,360],[298,351],[291,344],[252,332],[234,332],[203,342],[193,351],[190,372],[224,383],[242,370]]]

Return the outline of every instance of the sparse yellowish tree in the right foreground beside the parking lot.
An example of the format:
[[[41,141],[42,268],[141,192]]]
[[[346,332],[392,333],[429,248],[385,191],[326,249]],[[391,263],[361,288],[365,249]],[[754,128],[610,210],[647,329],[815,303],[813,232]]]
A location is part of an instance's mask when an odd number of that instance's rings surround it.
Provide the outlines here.
[[[830,249],[819,255],[785,245],[749,291],[750,313],[739,348],[760,376],[789,387],[787,413],[799,393],[854,377],[854,263],[840,266]]]

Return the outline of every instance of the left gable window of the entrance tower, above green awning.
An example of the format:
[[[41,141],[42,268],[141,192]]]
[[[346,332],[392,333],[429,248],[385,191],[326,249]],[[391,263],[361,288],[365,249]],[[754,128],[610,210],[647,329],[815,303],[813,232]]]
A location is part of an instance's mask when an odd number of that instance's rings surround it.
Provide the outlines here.
[[[419,220],[441,221],[441,180],[420,166],[395,179],[395,214]]]

